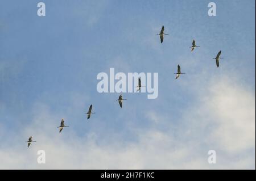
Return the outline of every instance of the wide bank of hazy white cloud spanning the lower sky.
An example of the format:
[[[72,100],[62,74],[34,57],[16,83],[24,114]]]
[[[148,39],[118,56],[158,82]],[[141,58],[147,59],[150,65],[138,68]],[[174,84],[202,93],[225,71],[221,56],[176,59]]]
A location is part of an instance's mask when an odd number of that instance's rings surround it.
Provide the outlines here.
[[[206,90],[176,123],[146,113],[151,126],[131,128],[135,141],[102,141],[93,131],[81,137],[72,127],[59,134],[54,120],[61,116],[37,104],[30,125],[0,140],[0,169],[255,169],[254,93],[226,78]],[[27,149],[30,134],[38,142]],[[46,150],[45,165],[36,162],[39,149]],[[216,165],[207,162],[210,149]]]

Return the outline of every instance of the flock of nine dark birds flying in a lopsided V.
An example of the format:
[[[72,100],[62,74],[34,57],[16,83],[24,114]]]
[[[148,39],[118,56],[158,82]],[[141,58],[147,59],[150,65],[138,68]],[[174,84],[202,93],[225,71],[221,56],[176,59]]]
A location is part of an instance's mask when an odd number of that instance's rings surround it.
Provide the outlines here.
[[[158,33],[156,35],[160,35],[160,42],[163,43],[164,35],[169,35],[169,34],[164,33],[164,26],[162,26],[162,29],[161,29],[160,33]],[[191,52],[193,52],[193,50],[195,48],[197,48],[197,47],[200,47],[200,46],[197,46],[196,45],[196,41],[193,40],[192,41],[192,47],[189,47],[189,48],[191,48]],[[213,59],[216,60],[217,68],[220,66],[220,62],[219,62],[220,59],[221,59],[220,55],[221,55],[221,50],[220,50],[220,52],[218,52],[217,56],[215,58],[213,58]],[[185,73],[182,73],[181,69],[180,69],[180,65],[177,65],[177,73],[174,73],[174,74],[176,74],[176,78],[175,79],[177,79],[177,78],[180,77],[181,74],[185,74]],[[138,86],[137,86],[138,89],[137,89],[137,91],[141,90],[141,87],[144,87],[144,86],[141,85],[141,78],[138,78]],[[119,95],[117,101],[118,101],[119,106],[121,108],[123,106],[123,100],[127,100],[127,99],[123,99],[122,98],[122,94]],[[92,112],[92,104],[91,104],[90,107],[89,107],[88,112],[86,112],[87,119],[90,119],[90,116],[91,116],[92,113],[95,113],[95,112]],[[57,127],[57,128],[59,128],[59,133],[63,130],[64,127],[68,127],[68,126],[64,125],[64,118],[63,118],[63,119],[61,119],[60,126]],[[36,141],[32,140],[32,136],[30,136],[28,138],[28,141],[26,141],[26,142],[27,142],[27,147],[29,147],[32,142],[36,142]]]

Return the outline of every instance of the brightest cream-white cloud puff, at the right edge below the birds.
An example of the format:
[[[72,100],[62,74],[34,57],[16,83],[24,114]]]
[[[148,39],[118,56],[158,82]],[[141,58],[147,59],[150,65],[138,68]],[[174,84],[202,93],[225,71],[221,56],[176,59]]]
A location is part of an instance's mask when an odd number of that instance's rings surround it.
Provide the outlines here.
[[[213,86],[208,108],[217,128],[212,139],[230,154],[255,149],[255,95],[230,82]]]

